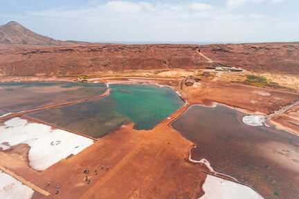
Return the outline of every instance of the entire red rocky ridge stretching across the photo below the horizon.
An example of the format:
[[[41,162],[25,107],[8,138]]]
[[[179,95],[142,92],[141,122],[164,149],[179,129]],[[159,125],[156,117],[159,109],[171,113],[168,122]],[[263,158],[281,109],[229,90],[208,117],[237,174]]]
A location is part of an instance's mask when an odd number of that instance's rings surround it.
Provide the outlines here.
[[[1,76],[100,75],[107,71],[206,68],[213,61],[253,72],[299,74],[299,43],[229,45],[2,45]]]

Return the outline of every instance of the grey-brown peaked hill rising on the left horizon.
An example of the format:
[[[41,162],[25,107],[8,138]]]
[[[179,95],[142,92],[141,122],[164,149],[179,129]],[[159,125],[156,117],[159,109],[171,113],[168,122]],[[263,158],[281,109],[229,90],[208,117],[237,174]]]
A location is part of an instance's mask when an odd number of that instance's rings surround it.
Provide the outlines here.
[[[66,42],[39,35],[15,21],[10,21],[0,26],[0,44],[61,46],[66,45]]]

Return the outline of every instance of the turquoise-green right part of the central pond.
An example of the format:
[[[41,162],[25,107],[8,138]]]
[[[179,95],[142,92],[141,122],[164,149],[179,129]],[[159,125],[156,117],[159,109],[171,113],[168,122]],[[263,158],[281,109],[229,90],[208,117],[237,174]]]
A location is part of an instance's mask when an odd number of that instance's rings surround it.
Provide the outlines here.
[[[115,109],[136,124],[134,129],[152,129],[183,104],[167,87],[113,84],[111,88]]]

